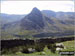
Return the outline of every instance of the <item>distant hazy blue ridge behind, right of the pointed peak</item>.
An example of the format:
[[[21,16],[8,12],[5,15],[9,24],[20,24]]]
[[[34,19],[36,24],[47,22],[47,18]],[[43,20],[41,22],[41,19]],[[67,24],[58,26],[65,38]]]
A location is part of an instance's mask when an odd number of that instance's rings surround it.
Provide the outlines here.
[[[59,20],[75,19],[74,12],[54,12],[50,10],[43,10],[42,13],[47,17],[55,17]]]

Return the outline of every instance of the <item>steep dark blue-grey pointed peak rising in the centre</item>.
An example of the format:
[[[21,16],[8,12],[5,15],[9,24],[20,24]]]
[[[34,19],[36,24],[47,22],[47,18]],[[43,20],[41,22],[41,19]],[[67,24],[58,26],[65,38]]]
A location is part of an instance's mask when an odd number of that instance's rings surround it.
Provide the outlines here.
[[[33,8],[30,14],[21,20],[21,27],[25,30],[39,30],[44,28],[44,18],[40,10]]]

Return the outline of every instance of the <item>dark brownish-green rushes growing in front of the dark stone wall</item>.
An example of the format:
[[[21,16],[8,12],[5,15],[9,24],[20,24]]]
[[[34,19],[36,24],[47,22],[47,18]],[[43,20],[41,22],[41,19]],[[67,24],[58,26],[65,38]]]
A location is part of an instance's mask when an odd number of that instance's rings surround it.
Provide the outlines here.
[[[34,46],[32,45],[26,45],[26,46],[17,46],[13,48],[3,49],[1,54],[16,54],[17,52],[21,53],[29,53],[28,48],[33,48],[36,50],[36,52],[42,52],[44,51],[45,45],[42,43],[37,43]],[[51,52],[55,53],[55,47],[54,44],[48,45],[48,49],[51,50]]]

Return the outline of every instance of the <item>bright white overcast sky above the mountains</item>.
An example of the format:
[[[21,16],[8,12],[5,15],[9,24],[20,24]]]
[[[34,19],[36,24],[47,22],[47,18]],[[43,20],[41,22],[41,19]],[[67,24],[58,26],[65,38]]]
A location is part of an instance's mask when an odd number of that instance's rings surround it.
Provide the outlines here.
[[[41,11],[74,12],[74,1],[1,1],[1,13],[28,14],[34,7]]]

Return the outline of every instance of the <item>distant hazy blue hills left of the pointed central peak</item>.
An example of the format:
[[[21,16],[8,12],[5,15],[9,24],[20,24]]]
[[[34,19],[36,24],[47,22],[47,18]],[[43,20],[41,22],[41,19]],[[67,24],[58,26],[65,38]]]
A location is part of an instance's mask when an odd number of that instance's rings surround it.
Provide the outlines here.
[[[1,23],[2,24],[7,24],[10,22],[15,22],[21,20],[25,15],[15,15],[15,14],[5,14],[1,13]]]

